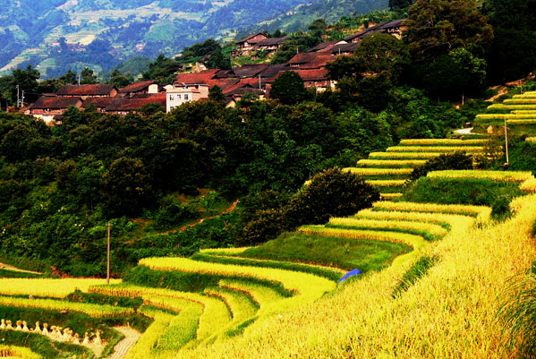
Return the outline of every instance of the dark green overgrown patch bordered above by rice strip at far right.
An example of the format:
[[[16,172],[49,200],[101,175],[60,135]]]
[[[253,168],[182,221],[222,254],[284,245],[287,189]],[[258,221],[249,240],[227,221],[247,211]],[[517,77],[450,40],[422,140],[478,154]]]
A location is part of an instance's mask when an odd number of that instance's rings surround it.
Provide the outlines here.
[[[401,201],[474,204],[493,208],[494,218],[508,216],[508,203],[522,195],[519,184],[487,178],[421,177],[404,192]]]

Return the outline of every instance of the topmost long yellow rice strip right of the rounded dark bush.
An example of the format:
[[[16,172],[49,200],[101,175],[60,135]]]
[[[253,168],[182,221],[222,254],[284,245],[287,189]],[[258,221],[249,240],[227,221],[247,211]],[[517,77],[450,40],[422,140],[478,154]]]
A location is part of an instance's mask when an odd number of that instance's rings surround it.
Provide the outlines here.
[[[478,222],[487,222],[491,216],[491,209],[486,206],[472,206],[467,204],[437,204],[415,202],[374,202],[375,209],[405,210],[411,212],[438,212],[447,214],[461,214],[476,217]]]

